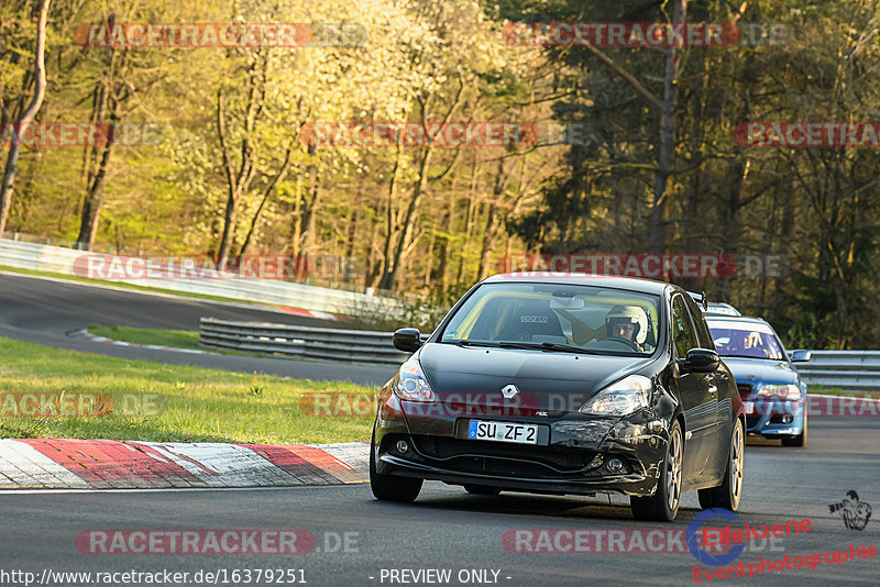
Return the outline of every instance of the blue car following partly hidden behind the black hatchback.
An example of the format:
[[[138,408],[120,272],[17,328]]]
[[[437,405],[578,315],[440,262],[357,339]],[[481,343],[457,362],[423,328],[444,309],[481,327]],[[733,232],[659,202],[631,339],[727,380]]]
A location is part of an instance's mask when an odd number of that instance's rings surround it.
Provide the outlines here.
[[[730,368],[746,408],[746,432],[806,445],[806,384],[793,363],[810,361],[796,351],[789,359],[773,328],[760,318],[705,314],[715,347]]]

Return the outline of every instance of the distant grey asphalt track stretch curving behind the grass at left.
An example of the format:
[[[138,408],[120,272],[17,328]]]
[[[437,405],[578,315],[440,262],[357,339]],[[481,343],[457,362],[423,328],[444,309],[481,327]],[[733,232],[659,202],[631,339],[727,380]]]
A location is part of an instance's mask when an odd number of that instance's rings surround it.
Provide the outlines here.
[[[351,365],[318,361],[260,358],[233,355],[198,355],[174,351],[116,346],[70,336],[89,324],[173,330],[199,328],[201,317],[278,322],[307,326],[340,328],[339,322],[296,315],[251,304],[222,303],[156,296],[121,288],[0,273],[0,336],[20,341],[100,353],[132,361],[158,361],[219,369],[266,373],[302,379],[350,380],[381,385],[394,375],[387,365]]]

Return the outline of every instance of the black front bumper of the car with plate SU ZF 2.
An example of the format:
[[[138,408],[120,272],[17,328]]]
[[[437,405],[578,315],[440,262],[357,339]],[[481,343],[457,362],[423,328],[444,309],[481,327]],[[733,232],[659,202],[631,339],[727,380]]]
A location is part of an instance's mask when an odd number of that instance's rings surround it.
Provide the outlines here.
[[[372,446],[377,473],[452,485],[537,494],[649,496],[657,490],[669,439],[669,422],[650,408],[625,418],[571,412],[426,414],[424,410],[408,411],[409,402],[396,396],[383,399]],[[470,440],[471,419],[536,424],[538,444]],[[623,466],[609,466],[613,459]]]

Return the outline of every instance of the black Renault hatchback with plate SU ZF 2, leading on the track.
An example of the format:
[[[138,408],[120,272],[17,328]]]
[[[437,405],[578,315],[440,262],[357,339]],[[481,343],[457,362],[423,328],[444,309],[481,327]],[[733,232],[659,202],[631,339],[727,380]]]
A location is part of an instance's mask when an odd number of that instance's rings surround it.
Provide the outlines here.
[[[473,288],[381,394],[377,499],[422,481],[472,494],[619,492],[672,520],[682,491],[736,510],[745,414],[696,303],[646,279],[496,275]]]

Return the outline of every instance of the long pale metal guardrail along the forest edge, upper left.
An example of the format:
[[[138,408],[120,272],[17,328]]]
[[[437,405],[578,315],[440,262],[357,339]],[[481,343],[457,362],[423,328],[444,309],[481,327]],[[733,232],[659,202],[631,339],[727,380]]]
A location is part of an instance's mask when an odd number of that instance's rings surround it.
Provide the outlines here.
[[[85,257],[101,257],[108,263],[118,259],[123,264],[129,258],[0,239],[0,265],[10,267],[81,276]],[[79,263],[77,263],[77,259],[79,259]],[[174,265],[168,266],[176,267]],[[175,275],[185,274],[182,270]],[[274,279],[243,278],[223,272],[217,272],[217,276],[218,278],[213,279],[112,279],[110,277],[108,280],[349,315],[393,314],[399,308],[397,300],[392,298],[369,296],[354,291],[306,286]]]

